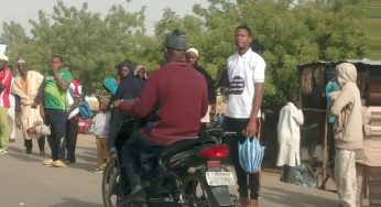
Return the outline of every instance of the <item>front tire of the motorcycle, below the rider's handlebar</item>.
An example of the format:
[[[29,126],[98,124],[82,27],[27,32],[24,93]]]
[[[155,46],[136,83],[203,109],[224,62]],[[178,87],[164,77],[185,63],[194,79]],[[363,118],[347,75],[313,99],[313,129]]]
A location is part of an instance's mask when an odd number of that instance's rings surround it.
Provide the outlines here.
[[[101,194],[105,207],[117,207],[117,203],[122,198],[120,189],[120,168],[117,157],[111,159],[104,171]]]

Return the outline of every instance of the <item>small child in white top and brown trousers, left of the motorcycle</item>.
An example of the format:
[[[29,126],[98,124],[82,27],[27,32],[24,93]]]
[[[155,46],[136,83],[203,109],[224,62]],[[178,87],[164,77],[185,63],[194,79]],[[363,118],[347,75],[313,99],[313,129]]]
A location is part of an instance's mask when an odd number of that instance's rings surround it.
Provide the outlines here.
[[[109,150],[107,146],[111,117],[109,103],[109,97],[104,96],[99,98],[99,112],[94,117],[92,124],[89,129],[90,133],[96,135],[97,139],[97,168],[94,173],[102,173],[104,160],[109,157]]]

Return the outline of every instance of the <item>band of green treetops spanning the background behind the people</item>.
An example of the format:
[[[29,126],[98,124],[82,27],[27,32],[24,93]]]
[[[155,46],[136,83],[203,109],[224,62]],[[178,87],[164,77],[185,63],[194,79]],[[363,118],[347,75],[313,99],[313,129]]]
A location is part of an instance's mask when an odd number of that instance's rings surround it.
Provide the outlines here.
[[[39,20],[31,21],[32,36],[11,22],[3,25],[0,40],[10,45],[11,59],[23,56],[30,68],[37,70],[48,68],[53,53],[63,54],[86,90],[95,91],[105,77],[116,76],[115,65],[122,59],[142,64],[149,72],[159,68],[164,35],[181,29],[188,34],[188,45],[198,48],[199,64],[217,79],[220,91],[226,92],[224,72],[226,59],[236,52],[233,32],[239,24],[248,24],[253,32],[252,48],[268,64],[265,100],[280,105],[285,90],[297,87],[296,65],[318,59],[362,58],[368,54],[366,0],[294,2],[209,0],[207,8],[195,4],[194,14],[184,17],[165,9],[154,35],[148,35],[144,7],[129,12],[115,6],[101,18],[89,12],[87,3],[77,9],[58,1],[52,14],[40,11]]]

